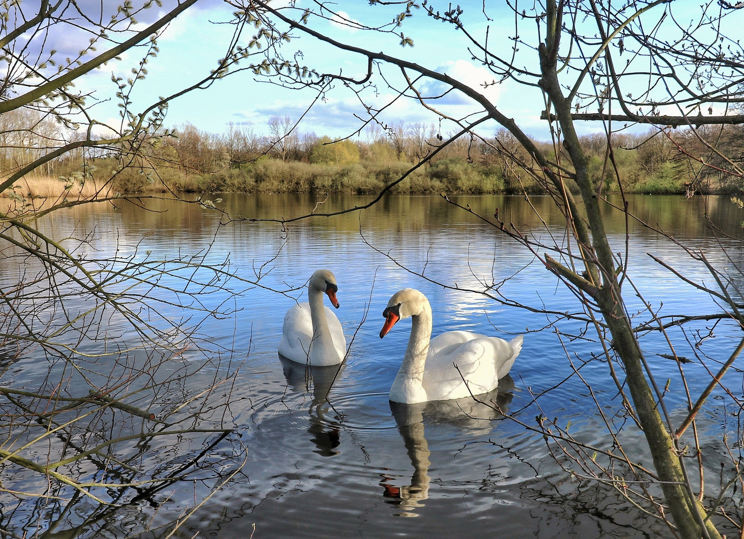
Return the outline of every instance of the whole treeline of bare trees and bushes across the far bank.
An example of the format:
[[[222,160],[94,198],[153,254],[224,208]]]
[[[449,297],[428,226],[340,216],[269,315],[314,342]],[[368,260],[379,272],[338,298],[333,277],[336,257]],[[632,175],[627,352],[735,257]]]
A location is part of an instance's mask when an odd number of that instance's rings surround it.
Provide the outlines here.
[[[22,116],[25,114],[25,116]],[[60,126],[25,112],[0,119],[0,166],[18,170],[65,138]],[[542,193],[542,173],[522,146],[501,129],[493,138],[459,138],[435,124],[373,126],[354,140],[333,141],[301,133],[289,117],[272,117],[268,135],[252,123],[228,124],[225,132],[204,132],[186,124],[175,135],[153,136],[141,154],[99,150],[69,153],[49,161],[36,175],[68,184],[114,177],[122,193],[169,189],[174,192],[374,193],[400,178],[413,164],[436,152],[395,188],[405,193]],[[741,126],[650,129],[644,135],[614,134],[612,152],[605,135],[581,139],[589,170],[604,193],[741,193],[744,160]],[[565,170],[571,163],[560,148],[536,142]],[[725,149],[716,152],[716,148]],[[612,159],[610,159],[612,154]],[[619,180],[618,180],[619,178]],[[570,180],[566,181],[573,188]]]

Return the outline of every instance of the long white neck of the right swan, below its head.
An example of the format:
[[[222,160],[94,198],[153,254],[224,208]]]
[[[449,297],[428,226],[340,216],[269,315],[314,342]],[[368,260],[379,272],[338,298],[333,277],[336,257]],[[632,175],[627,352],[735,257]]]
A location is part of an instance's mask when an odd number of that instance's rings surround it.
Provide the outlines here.
[[[403,364],[400,365],[390,389],[391,401],[410,404],[427,400],[422,382],[431,338],[432,308],[427,302],[419,314],[411,317],[411,337],[408,338],[408,348],[405,349]]]

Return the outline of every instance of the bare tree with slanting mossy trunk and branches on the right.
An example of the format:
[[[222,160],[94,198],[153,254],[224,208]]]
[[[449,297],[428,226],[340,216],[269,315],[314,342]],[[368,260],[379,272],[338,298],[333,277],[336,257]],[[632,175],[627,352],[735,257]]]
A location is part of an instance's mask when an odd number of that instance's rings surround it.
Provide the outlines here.
[[[355,16],[353,22],[344,19],[343,13],[334,12],[334,7],[327,4],[318,3],[316,7],[300,8],[292,4],[275,7],[261,0],[235,3],[246,11],[256,13],[263,28],[270,28],[276,33],[285,32],[287,36],[312,37],[326,45],[356,54],[359,71],[362,73],[351,77],[340,73],[315,72],[303,66],[302,70],[292,68],[272,72],[269,76],[276,83],[295,88],[315,88],[321,92],[328,91],[333,83],[339,83],[339,86],[350,88],[364,103],[364,110],[368,114],[365,123],[383,124],[382,111],[385,106],[368,103],[365,100],[368,95],[365,90],[387,85],[394,92],[392,99],[408,98],[412,103],[418,103],[437,114],[442,122],[451,125],[455,129],[454,134],[423,161],[433,158],[448,144],[462,137],[482,139],[482,135],[478,135],[478,129],[488,120],[495,120],[513,136],[526,153],[525,158],[516,157],[521,159],[520,167],[545,188],[562,211],[565,216],[565,235],[559,236],[570,241],[551,243],[543,242],[532,234],[525,236],[519,224],[501,221],[498,213],[494,217],[481,217],[485,225],[509,234],[524,248],[533,251],[542,260],[546,271],[551,272],[574,292],[582,309],[580,314],[562,313],[551,310],[550,306],[532,309],[551,314],[554,323],[575,318],[584,320],[596,330],[601,344],[598,353],[605,355],[609,374],[618,381],[618,393],[622,396],[627,416],[637,422],[647,439],[654,471],[623,454],[621,445],[618,453],[604,451],[602,458],[605,459],[605,464],[596,465],[595,457],[587,456],[585,446],[568,435],[556,422],[548,421],[545,417],[539,416],[538,425],[533,428],[554,439],[559,448],[572,455],[574,462],[586,463],[577,464],[584,473],[591,473],[597,480],[607,481],[615,485],[615,488],[619,480],[614,475],[617,473],[616,465],[622,462],[628,476],[622,481],[640,486],[635,490],[623,491],[618,488],[618,492],[635,506],[643,503],[644,511],[666,520],[683,538],[720,537],[716,523],[731,519],[731,511],[736,511],[733,506],[722,510],[721,500],[731,496],[731,486],[740,480],[740,474],[734,474],[728,487],[718,492],[713,490],[707,495],[701,480],[697,486],[699,491],[696,492],[684,460],[687,443],[683,435],[688,425],[694,424],[698,410],[704,406],[713,387],[739,355],[744,347],[744,339],[738,346],[731,348],[730,360],[723,364],[716,375],[711,376],[708,389],[697,396],[689,396],[689,410],[685,419],[679,424],[673,422],[664,401],[664,392],[656,384],[638,336],[652,330],[667,335],[670,328],[689,323],[690,320],[685,319],[684,313],[677,317],[659,317],[652,306],[647,304],[649,319],[634,326],[626,301],[628,294],[643,297],[642,292],[633,288],[627,248],[624,254],[618,254],[610,245],[605,233],[604,212],[619,211],[626,213],[628,220],[635,218],[628,213],[626,205],[613,207],[603,197],[601,181],[598,185],[591,181],[587,167],[588,156],[580,144],[577,123],[601,123],[605,129],[608,148],[605,164],[614,169],[616,174],[618,170],[612,149],[615,129],[625,123],[639,123],[655,126],[660,131],[667,126],[686,127],[690,136],[697,138],[706,153],[691,155],[690,158],[705,168],[709,161],[708,155],[716,155],[725,164],[723,168],[727,174],[741,177],[739,164],[727,157],[725,146],[699,137],[696,129],[705,125],[744,123],[743,115],[728,113],[731,109],[737,109],[744,100],[744,51],[740,42],[734,38],[736,23],[732,20],[744,7],[727,2],[703,4],[697,8],[699,13],[688,19],[687,5],[672,4],[666,0],[622,5],[597,0],[547,0],[544,4],[530,4],[524,9],[513,8],[510,16],[513,18],[513,28],[516,29],[513,30],[513,35],[499,39],[496,32],[483,30],[493,20],[491,8],[486,4],[479,4],[472,13],[460,6],[443,4],[440,7],[436,2],[430,1],[421,4],[414,1],[372,1],[371,4],[377,9],[403,11],[391,13],[392,16],[387,20],[392,22],[386,25],[372,26],[360,23],[362,16]],[[509,4],[510,7],[511,5]],[[681,13],[677,13],[677,10]],[[436,25],[434,28],[437,33],[442,31],[442,25],[449,25],[453,31],[457,30],[465,36],[467,49],[464,54],[481,62],[493,75],[493,81],[484,81],[484,86],[510,80],[523,85],[525,90],[536,88],[539,91],[536,97],[539,96],[540,103],[545,103],[542,117],[551,126],[553,136],[551,153],[542,152],[519,122],[501,112],[484,95],[482,88],[442,73],[436,65],[420,65],[397,54],[372,51],[333,39],[319,26],[327,17],[333,16],[334,20],[346,20],[355,30],[363,28],[369,33],[393,34],[397,43],[405,47],[414,45],[414,42],[401,29],[416,12],[429,18]],[[501,16],[503,13],[499,14]],[[693,22],[680,24],[678,21],[683,19]],[[355,42],[360,42],[358,36],[355,37]],[[292,59],[285,59],[281,50],[272,49],[266,51],[266,54],[266,61],[272,65],[284,63],[293,67],[296,63]],[[304,59],[308,61],[307,56]],[[348,72],[348,69],[344,69],[344,73]],[[422,85],[422,80],[435,84]],[[435,89],[426,93],[423,88]],[[437,108],[437,96],[452,90],[466,96],[474,106],[480,107],[480,112],[466,118],[456,118],[449,116],[444,109]],[[717,115],[702,114],[702,110],[708,110],[709,107],[712,111],[713,105],[724,106],[726,112]],[[398,140],[399,131],[394,126],[389,133],[400,153],[403,152],[403,146]],[[664,132],[657,136],[663,137]],[[411,170],[420,167],[423,161],[414,164]],[[410,172],[388,184],[376,200]],[[575,199],[571,193],[568,187],[570,182],[575,183],[580,200]],[[464,207],[464,210],[467,208]],[[661,230],[658,233],[662,233]],[[732,296],[729,293],[735,285],[734,277],[714,268],[705,254],[696,253],[691,247],[682,247],[708,268],[717,283],[713,287],[693,283],[702,286],[724,308],[706,315],[706,319],[728,319],[743,323],[739,311],[741,301],[737,299],[737,295]],[[666,267],[674,271],[670,266]],[[680,277],[687,283],[692,283],[690,279]],[[492,289],[494,286],[494,283],[484,285],[481,293],[513,305],[499,297],[498,291]],[[679,361],[675,344],[671,340],[669,343],[670,357]],[[618,369],[621,370],[618,372]],[[684,385],[684,369],[681,364],[679,372],[680,383]],[[618,442],[620,433],[610,429],[609,436],[613,436]],[[697,438],[690,444],[690,447],[696,448],[699,474],[702,477],[707,463],[704,462]],[[738,470],[738,464],[734,463],[734,468]],[[652,483],[658,485],[663,492],[664,504],[658,503],[655,494],[648,490],[647,485]],[[669,515],[671,520],[668,520]],[[740,519],[740,515],[737,518]],[[732,520],[738,527],[740,520]]]

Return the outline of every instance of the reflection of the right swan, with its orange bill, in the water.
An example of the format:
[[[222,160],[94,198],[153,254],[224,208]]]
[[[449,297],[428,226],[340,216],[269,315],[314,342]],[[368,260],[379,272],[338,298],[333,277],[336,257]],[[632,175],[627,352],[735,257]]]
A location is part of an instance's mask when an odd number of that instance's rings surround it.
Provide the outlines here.
[[[498,381],[498,388],[490,393],[478,396],[478,401],[490,403],[496,402],[493,407],[475,401],[472,397],[457,398],[449,401],[429,401],[416,404],[403,404],[390,401],[390,408],[398,425],[400,436],[403,436],[405,451],[411,459],[414,474],[411,476],[411,484],[401,487],[390,485],[391,477],[384,477],[379,483],[385,489],[383,496],[388,498],[388,503],[396,505],[401,512],[395,513],[399,517],[417,517],[417,508],[423,507],[423,500],[429,498],[429,445],[424,435],[424,420],[429,425],[436,423],[448,423],[469,430],[473,433],[482,430],[484,434],[490,433],[493,419],[502,416],[502,410],[507,411],[512,399],[510,393],[514,389],[514,381],[507,375]]]

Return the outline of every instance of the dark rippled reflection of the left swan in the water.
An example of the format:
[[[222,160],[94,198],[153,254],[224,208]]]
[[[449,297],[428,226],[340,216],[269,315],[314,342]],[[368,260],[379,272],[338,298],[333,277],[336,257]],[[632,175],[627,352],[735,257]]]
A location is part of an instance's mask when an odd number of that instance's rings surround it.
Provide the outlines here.
[[[318,367],[315,365],[298,364],[279,356],[284,378],[289,387],[298,393],[309,392],[312,387],[312,402],[310,403],[310,426],[307,432],[312,436],[310,441],[315,445],[314,453],[322,456],[338,455],[336,448],[341,444],[341,424],[336,411],[328,403],[328,393],[331,384],[339,374],[339,365]],[[343,366],[341,365],[342,369]],[[330,419],[329,419],[330,418]]]

